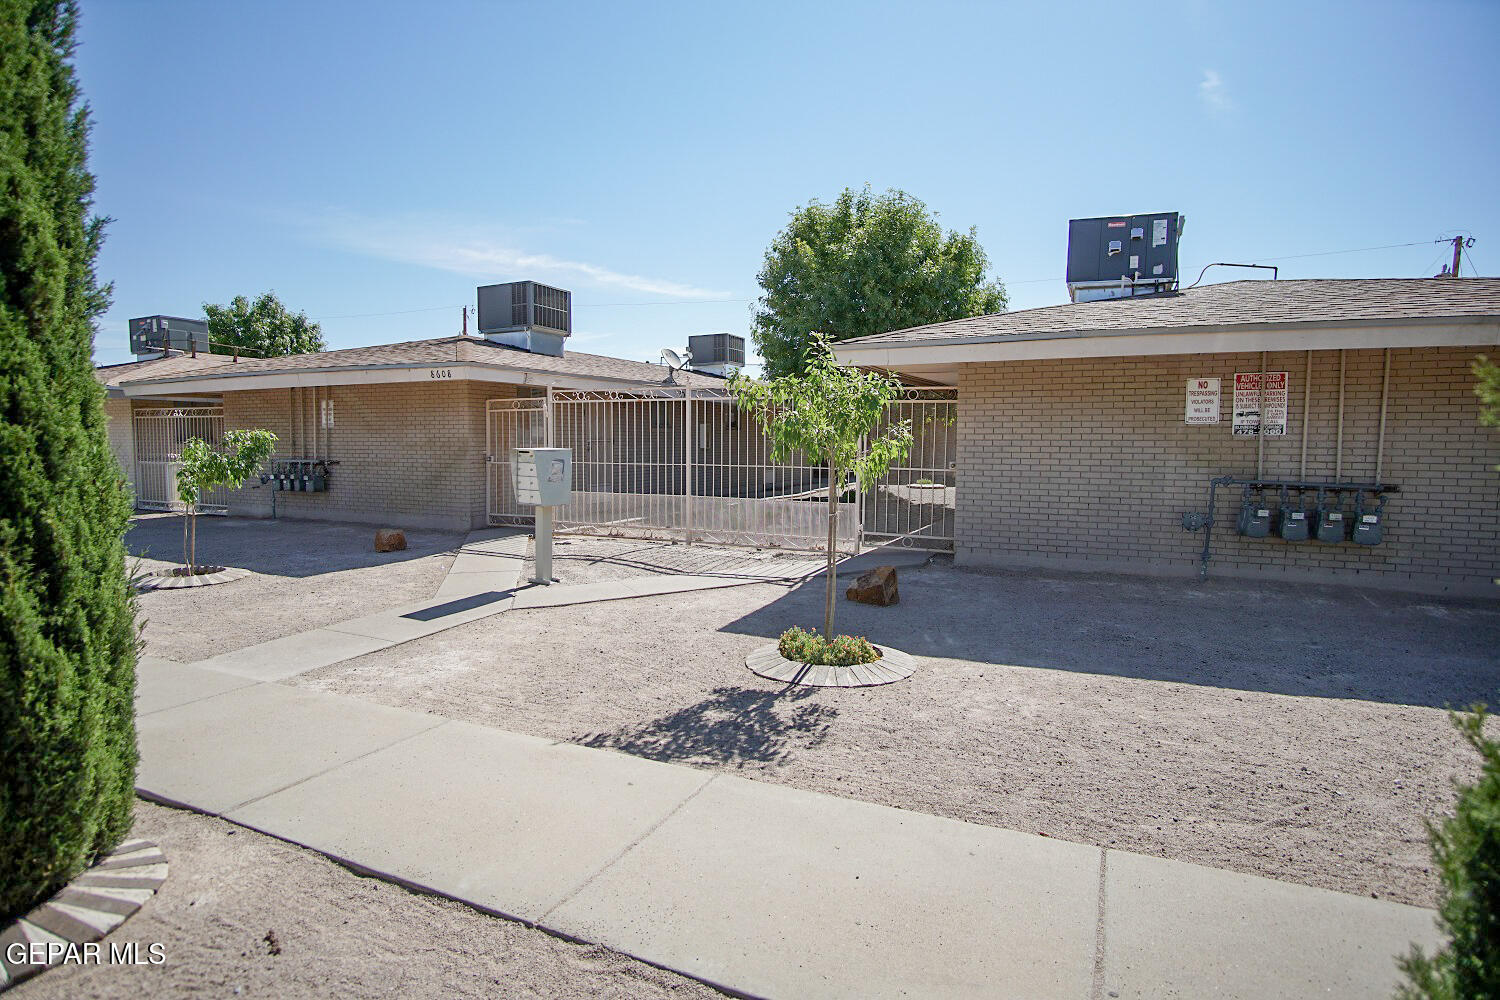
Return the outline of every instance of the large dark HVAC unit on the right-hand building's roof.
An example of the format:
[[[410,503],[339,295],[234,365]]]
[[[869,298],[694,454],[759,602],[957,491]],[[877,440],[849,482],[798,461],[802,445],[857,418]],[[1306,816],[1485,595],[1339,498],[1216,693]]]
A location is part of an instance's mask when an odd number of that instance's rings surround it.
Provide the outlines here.
[[[1152,295],[1178,285],[1176,211],[1068,220],[1068,297],[1072,301]]]

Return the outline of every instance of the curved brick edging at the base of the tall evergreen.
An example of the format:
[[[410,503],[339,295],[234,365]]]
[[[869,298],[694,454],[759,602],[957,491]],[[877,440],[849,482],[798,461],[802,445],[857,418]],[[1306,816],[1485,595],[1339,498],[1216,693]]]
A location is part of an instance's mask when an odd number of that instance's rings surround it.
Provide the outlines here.
[[[0,931],[0,993],[68,958],[81,961],[87,955],[84,945],[124,924],[165,880],[166,855],[160,847],[148,840],[128,840],[116,847],[51,900]]]

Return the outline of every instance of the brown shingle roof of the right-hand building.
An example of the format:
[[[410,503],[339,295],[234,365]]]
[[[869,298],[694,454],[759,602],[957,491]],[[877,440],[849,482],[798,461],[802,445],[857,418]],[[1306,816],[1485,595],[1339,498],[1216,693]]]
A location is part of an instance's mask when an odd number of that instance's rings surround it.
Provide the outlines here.
[[[1120,330],[1176,330],[1299,322],[1500,319],[1500,277],[1374,277],[1246,280],[1170,295],[1022,309],[876,333],[840,346],[897,346],[939,340],[1078,336]]]

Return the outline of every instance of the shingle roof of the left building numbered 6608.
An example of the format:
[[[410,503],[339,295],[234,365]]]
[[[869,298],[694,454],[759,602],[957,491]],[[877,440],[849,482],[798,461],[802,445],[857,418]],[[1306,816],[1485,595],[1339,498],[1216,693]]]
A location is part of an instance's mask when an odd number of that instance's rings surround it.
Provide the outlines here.
[[[165,361],[182,361],[189,358],[165,358]],[[626,382],[662,382],[666,379],[666,367],[646,361],[628,361],[612,358],[603,354],[582,354],[567,351],[562,357],[548,354],[532,354],[522,348],[502,343],[492,343],[477,337],[438,337],[435,340],[406,340],[404,343],[381,343],[369,348],[346,348],[342,351],[320,351],[316,354],[292,354],[276,358],[216,358],[214,376],[270,375],[280,372],[308,372],[327,369],[366,369],[366,367],[404,367],[423,364],[488,364],[495,367],[519,369],[524,372],[540,372],[550,375],[572,375],[579,378],[602,378]],[[142,363],[152,364],[152,363]],[[128,364],[114,369],[132,367]],[[98,369],[108,372],[111,369]],[[194,369],[166,370],[150,369],[140,375],[130,375],[124,381],[154,381],[158,378],[180,378],[194,375]],[[696,372],[676,372],[678,385],[723,385],[723,379]]]

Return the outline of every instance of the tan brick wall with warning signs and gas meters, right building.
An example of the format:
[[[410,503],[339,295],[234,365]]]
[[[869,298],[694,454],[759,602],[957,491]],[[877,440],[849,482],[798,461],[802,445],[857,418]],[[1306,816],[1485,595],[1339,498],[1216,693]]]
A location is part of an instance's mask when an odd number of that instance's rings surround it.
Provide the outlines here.
[[[1210,576],[1348,580],[1494,595],[1500,576],[1500,432],[1478,421],[1468,363],[1482,348],[1390,352],[1384,544],[1284,543],[1234,532],[1239,489],[1220,489]],[[1376,474],[1382,351],[1348,351],[1342,478]],[[1272,352],[1290,373],[1287,435],[1264,439],[1264,478],[1334,477],[1338,352]],[[1230,436],[1233,376],[1260,354],[1012,361],[963,366],[958,381],[957,559],[1162,574],[1197,573],[1212,477],[1256,475],[1256,439]],[[1222,379],[1216,426],[1184,423],[1188,378]]]

